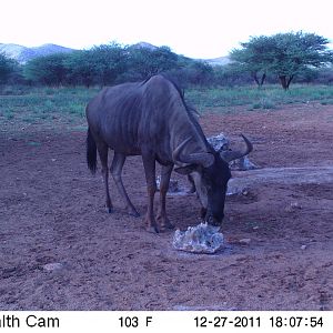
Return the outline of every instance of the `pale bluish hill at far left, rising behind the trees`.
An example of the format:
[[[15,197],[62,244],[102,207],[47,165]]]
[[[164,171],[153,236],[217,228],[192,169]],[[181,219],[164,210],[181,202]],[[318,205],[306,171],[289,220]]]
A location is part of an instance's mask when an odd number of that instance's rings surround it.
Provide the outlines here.
[[[7,57],[17,60],[20,63],[42,56],[49,56],[53,53],[67,53],[72,52],[73,49],[56,46],[56,44],[43,44],[37,48],[27,48],[18,44],[3,44],[0,43],[0,52],[3,52]]]

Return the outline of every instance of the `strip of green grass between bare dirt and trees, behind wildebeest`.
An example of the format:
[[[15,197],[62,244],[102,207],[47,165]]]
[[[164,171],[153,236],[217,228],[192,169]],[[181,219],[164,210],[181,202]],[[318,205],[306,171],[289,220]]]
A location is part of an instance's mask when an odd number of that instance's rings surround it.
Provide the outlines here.
[[[11,123],[58,123],[75,125],[84,120],[87,103],[99,89],[1,87],[0,125]],[[273,110],[291,103],[320,102],[333,104],[333,85],[292,84],[289,91],[280,85],[189,89],[185,99],[200,112],[218,110],[233,113],[239,105],[248,110]]]

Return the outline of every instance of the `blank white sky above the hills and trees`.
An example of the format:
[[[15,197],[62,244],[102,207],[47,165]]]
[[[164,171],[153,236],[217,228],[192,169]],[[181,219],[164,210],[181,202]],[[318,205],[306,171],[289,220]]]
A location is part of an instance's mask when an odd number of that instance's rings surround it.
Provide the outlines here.
[[[213,59],[278,32],[302,30],[333,43],[332,0],[0,0],[0,43],[26,47],[145,41]]]

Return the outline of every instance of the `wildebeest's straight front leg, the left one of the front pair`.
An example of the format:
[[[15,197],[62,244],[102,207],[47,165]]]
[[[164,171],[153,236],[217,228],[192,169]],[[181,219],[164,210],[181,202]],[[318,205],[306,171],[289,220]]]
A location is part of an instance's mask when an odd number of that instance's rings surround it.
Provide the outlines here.
[[[154,195],[157,192],[155,158],[151,153],[142,152],[142,161],[144,167],[147,191],[148,191],[148,208],[147,208],[147,215],[145,215],[147,231],[159,232],[154,219]]]

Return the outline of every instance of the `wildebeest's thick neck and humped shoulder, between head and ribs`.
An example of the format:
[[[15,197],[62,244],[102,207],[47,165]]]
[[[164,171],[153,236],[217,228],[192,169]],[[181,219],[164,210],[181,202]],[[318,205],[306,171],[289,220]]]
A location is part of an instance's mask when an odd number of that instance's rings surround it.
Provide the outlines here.
[[[172,82],[163,77],[154,77],[143,89],[143,109],[150,110],[150,114],[142,118],[145,127],[141,131],[142,139],[148,144],[154,144],[159,160],[174,162],[172,152],[188,138],[191,141],[184,153],[209,151],[196,115]]]

